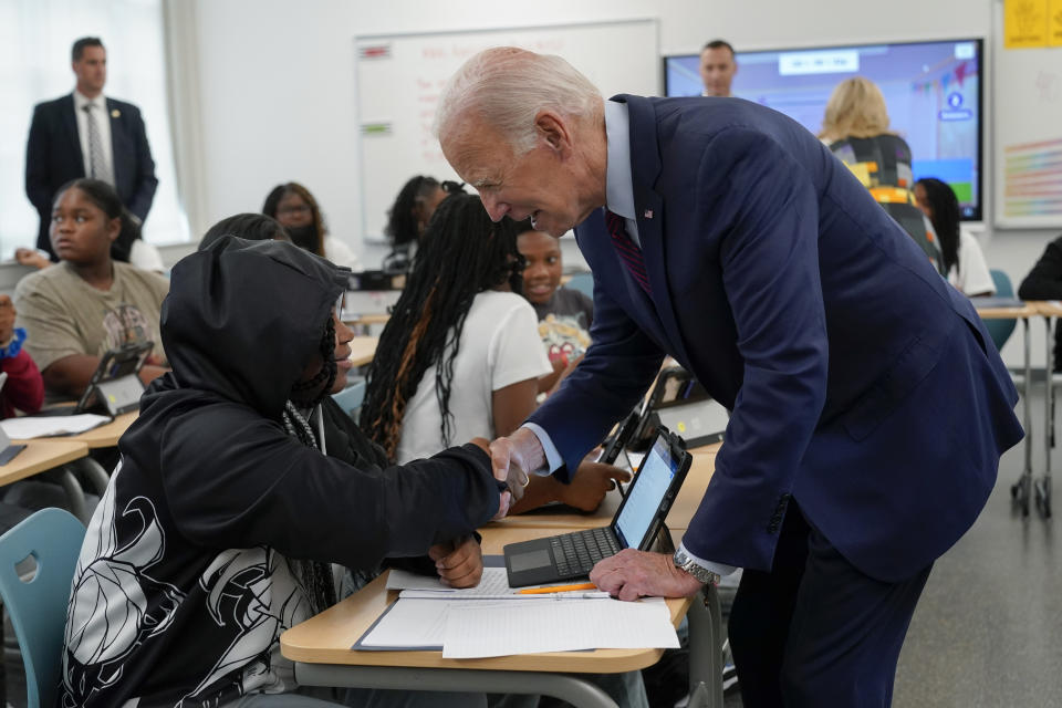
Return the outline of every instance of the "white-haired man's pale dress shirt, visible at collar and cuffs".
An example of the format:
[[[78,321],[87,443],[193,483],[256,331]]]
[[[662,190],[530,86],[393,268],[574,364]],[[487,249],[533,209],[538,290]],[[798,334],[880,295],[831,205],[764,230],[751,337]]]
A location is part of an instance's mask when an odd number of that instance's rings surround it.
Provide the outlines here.
[[[627,104],[605,101],[605,135],[608,143],[608,164],[605,168],[606,208],[623,217],[627,227],[627,236],[638,248],[642,248],[642,240],[638,238],[638,225],[635,220],[634,177],[631,174],[631,118],[627,115]],[[542,426],[534,423],[524,423],[522,427],[534,433],[542,444],[542,450],[545,452],[548,469],[535,471],[550,473],[560,469],[564,460],[561,459],[561,454]],[[574,470],[572,471],[574,472]],[[737,570],[733,565],[714,563],[698,558],[690,553],[685,544],[681,544],[680,548],[698,565],[719,575],[729,575]]]

